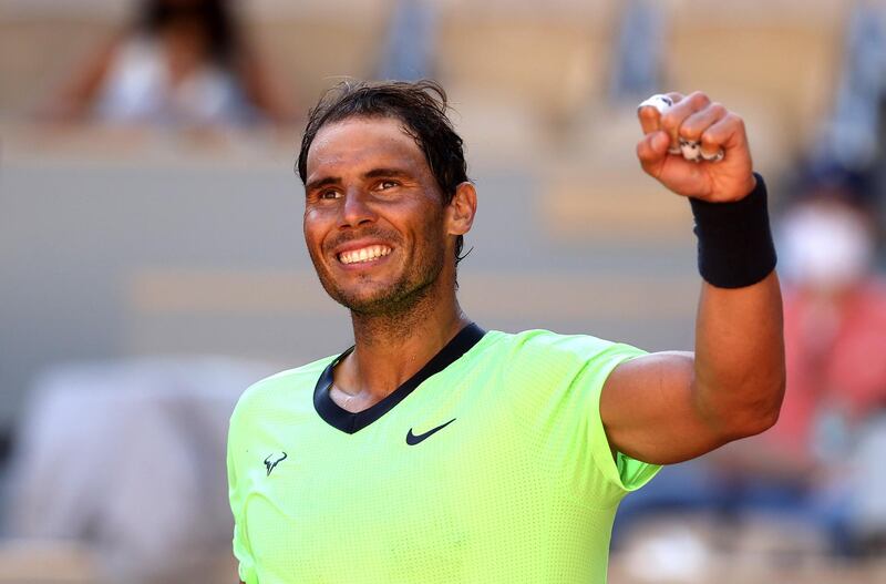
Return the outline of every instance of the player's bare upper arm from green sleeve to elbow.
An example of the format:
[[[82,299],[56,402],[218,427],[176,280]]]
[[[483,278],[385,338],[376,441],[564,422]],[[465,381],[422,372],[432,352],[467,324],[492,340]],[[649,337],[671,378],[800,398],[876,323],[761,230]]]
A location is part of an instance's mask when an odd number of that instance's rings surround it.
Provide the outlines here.
[[[728,429],[703,414],[693,378],[691,352],[656,352],[616,367],[600,396],[610,445],[643,462],[670,464],[730,441]]]

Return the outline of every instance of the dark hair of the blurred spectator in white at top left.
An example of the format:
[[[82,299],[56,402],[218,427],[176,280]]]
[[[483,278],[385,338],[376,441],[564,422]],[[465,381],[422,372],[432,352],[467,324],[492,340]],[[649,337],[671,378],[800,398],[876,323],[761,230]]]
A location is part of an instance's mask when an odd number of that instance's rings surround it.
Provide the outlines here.
[[[228,0],[143,0],[135,27],[154,35],[178,22],[197,23],[206,32],[213,61],[231,68],[240,42],[236,17]]]

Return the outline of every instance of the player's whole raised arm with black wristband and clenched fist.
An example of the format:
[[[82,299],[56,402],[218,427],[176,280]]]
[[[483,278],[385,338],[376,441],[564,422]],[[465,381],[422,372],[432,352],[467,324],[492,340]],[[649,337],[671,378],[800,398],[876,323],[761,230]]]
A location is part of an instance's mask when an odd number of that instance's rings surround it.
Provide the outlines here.
[[[600,401],[611,447],[659,464],[762,432],[775,423],[784,393],[765,185],[753,174],[744,123],[702,93],[668,95],[673,105],[663,113],[640,109],[637,155],[647,174],[692,202],[704,278],[696,351],[620,365]],[[701,162],[669,153],[680,137],[701,144]]]

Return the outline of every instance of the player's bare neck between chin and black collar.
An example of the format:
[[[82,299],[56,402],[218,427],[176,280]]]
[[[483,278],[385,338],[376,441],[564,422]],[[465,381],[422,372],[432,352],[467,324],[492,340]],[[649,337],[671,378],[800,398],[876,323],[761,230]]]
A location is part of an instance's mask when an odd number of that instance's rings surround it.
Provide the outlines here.
[[[445,295],[434,291],[399,311],[351,313],[354,350],[337,367],[336,385],[371,406],[424,367],[470,324],[454,286]]]

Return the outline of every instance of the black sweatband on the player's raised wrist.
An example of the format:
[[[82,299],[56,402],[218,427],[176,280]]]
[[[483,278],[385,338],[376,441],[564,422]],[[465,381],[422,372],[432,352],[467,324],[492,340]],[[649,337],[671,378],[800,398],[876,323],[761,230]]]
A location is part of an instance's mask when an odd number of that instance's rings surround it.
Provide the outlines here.
[[[718,288],[743,288],[775,269],[766,185],[754,173],[754,189],[734,203],[690,198],[699,239],[699,273]]]

